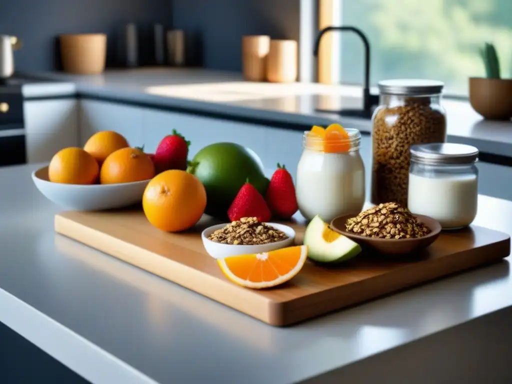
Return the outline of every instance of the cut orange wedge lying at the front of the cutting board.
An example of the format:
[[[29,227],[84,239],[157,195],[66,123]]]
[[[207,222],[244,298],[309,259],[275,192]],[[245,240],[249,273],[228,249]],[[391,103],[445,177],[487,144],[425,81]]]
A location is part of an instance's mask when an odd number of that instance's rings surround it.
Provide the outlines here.
[[[308,247],[298,245],[275,251],[218,259],[226,278],[248,288],[270,288],[293,278],[304,266]]]

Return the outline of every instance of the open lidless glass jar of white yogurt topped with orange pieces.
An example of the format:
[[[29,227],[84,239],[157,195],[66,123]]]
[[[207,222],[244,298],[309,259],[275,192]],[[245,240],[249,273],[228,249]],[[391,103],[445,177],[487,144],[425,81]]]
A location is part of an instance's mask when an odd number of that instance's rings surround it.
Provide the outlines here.
[[[330,224],[340,215],[357,215],[365,203],[365,166],[359,154],[361,134],[346,129],[348,139],[324,146],[304,133],[295,190],[298,208],[308,220],[319,215]]]

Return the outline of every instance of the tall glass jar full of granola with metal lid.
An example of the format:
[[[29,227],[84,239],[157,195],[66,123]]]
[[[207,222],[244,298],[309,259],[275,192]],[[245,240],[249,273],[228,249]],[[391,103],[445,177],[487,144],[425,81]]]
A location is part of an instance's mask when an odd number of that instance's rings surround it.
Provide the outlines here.
[[[383,80],[380,105],[373,114],[372,194],[374,204],[407,206],[409,148],[446,141],[440,104],[444,84],[435,80]]]

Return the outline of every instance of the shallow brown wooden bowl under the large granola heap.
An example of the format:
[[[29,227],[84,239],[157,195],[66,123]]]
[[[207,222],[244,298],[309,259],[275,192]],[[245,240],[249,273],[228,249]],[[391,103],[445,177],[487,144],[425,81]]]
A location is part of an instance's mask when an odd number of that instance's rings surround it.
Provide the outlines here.
[[[348,219],[354,217],[354,215],[339,216],[333,219],[331,222],[331,228],[349,239],[352,239],[364,249],[370,249],[382,254],[406,254],[428,247],[439,237],[439,233],[441,232],[441,224],[439,224],[437,220],[423,215],[414,216],[430,228],[431,232],[428,235],[417,239],[398,240],[368,238],[346,230],[345,223]]]

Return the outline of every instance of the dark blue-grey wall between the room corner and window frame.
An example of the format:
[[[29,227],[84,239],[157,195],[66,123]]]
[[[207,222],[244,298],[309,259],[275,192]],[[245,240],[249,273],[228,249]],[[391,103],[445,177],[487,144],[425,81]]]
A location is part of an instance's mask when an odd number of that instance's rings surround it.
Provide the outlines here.
[[[185,30],[189,61],[240,71],[242,35],[298,40],[298,0],[174,0],[173,24]]]

